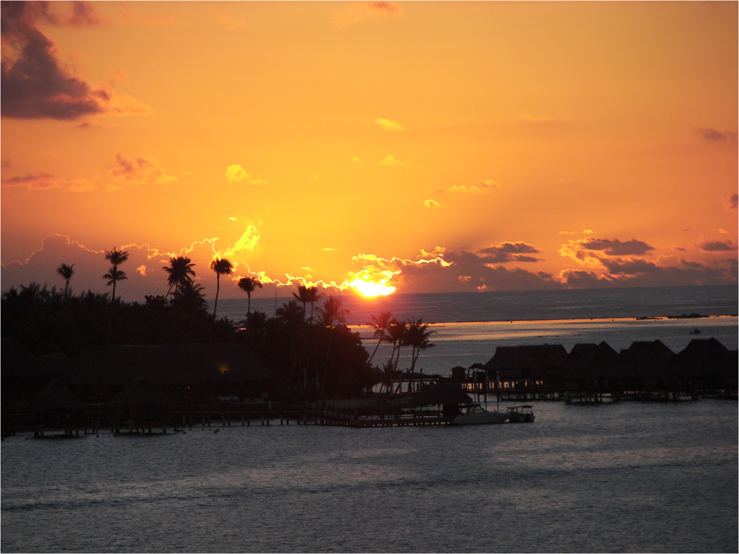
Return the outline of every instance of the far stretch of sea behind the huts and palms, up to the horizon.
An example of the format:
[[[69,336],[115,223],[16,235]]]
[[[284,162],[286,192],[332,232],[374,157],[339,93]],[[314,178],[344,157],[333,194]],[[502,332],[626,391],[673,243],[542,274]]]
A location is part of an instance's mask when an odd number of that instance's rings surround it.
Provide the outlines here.
[[[251,309],[273,317],[290,298],[252,298]],[[431,324],[434,346],[418,358],[426,374],[449,375],[454,366],[486,363],[497,346],[606,341],[616,351],[634,341],[665,343],[680,352],[693,338],[715,337],[728,349],[739,347],[738,288],[653,287],[609,290],[537,290],[516,292],[398,294],[378,298],[341,295],[346,324],[359,332],[368,352],[375,349],[372,315],[392,312],[406,321]],[[319,301],[318,305],[321,304]],[[246,298],[219,299],[218,315],[245,318]],[[307,308],[310,310],[310,307]],[[674,319],[668,316],[713,316]],[[636,319],[656,318],[656,319]],[[699,335],[691,334],[695,329]],[[382,345],[373,363],[389,358],[392,346]],[[399,369],[410,366],[410,352],[401,351]]]

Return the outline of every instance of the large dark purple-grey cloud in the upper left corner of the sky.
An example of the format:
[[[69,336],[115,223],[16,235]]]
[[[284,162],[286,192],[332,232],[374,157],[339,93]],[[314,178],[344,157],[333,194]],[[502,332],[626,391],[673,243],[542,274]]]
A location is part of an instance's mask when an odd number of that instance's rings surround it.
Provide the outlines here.
[[[148,114],[149,106],[94,86],[61,62],[52,38],[38,27],[95,25],[91,4],[75,2],[67,16],[58,16],[44,2],[3,2],[0,112],[18,119],[79,120],[97,114]]]

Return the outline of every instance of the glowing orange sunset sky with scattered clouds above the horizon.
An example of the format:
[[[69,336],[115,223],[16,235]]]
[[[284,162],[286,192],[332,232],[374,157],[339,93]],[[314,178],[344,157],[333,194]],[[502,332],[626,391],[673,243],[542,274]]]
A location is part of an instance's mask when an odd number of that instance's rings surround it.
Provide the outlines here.
[[[209,299],[214,256],[265,296],[736,284],[737,22],[734,1],[4,3],[2,290],[63,288],[64,262],[109,292],[113,247],[128,301],[166,293],[171,255]]]

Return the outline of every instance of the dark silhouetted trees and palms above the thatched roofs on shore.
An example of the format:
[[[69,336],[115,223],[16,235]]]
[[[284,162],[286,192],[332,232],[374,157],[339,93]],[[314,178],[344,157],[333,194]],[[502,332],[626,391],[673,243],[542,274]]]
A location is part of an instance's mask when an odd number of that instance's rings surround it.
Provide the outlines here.
[[[372,365],[377,346],[370,356],[358,333],[342,323],[341,303],[320,294],[316,287],[298,287],[293,298],[268,318],[251,312],[251,293],[262,287],[255,278],[242,278],[239,288],[250,300],[242,321],[217,318],[208,313],[204,288],[195,284],[194,264],[177,256],[163,267],[169,290],[165,295],[147,295],[146,303],[129,303],[115,297],[116,285],[126,280],[120,264],[126,252],[110,250],[111,262],[103,276],[112,287],[110,295],[88,290],[73,295],[69,281],[74,264],[62,264],[58,273],[66,280],[64,291],[31,283],[12,287],[1,301],[1,333],[13,338],[42,358],[74,360],[84,352],[111,344],[155,345],[172,343],[248,343],[267,366],[279,376],[280,396],[303,398],[357,395],[377,383],[392,391],[397,380],[401,346],[412,347],[412,366],[421,350],[433,346],[431,332],[421,321],[399,323],[389,312],[372,317],[378,343],[392,343],[390,359],[383,369]],[[217,259],[211,264],[217,275],[231,273],[231,263]]]

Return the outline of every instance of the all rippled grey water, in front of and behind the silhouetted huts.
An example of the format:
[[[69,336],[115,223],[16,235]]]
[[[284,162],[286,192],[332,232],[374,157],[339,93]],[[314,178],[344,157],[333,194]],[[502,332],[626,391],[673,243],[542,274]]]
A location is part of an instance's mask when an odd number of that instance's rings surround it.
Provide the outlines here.
[[[347,324],[364,324],[382,310],[437,322],[436,346],[418,361],[426,373],[484,363],[495,346],[513,344],[562,343],[569,350],[607,341],[621,349],[660,339],[679,352],[696,327],[698,337],[737,348],[735,315],[664,318],[736,314],[736,287],[344,301],[353,310]],[[253,299],[252,309],[271,316],[270,303]],[[238,320],[245,304],[219,301],[220,315]],[[367,327],[356,329],[371,336]],[[366,346],[371,352],[374,342]],[[735,401],[539,402],[534,411],[534,423],[469,428],[273,420],[218,434],[202,427],[151,437],[21,434],[0,448],[0,550],[738,550]]]

